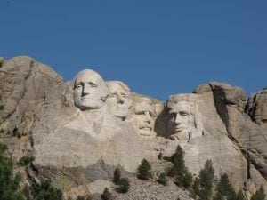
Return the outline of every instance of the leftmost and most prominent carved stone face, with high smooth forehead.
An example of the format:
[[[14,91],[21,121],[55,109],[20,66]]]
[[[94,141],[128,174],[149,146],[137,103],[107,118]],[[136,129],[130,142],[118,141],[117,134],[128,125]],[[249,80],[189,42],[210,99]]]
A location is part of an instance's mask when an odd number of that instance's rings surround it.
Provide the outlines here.
[[[107,88],[101,76],[91,69],[80,71],[74,78],[74,104],[81,110],[104,106]]]

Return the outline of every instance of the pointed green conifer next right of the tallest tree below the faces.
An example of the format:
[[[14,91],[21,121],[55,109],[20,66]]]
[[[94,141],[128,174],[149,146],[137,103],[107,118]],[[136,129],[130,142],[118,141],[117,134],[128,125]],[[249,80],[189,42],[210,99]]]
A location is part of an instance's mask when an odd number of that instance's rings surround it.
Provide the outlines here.
[[[198,178],[194,181],[193,188],[200,199],[208,200],[212,196],[214,184],[214,167],[211,160],[207,160],[204,169],[201,169]]]

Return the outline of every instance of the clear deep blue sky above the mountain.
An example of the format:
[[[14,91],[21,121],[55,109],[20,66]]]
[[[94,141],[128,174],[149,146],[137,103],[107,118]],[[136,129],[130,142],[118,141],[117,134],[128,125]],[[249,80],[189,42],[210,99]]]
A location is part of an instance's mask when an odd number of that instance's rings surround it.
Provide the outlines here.
[[[166,100],[212,80],[267,86],[267,1],[0,0],[0,56],[64,80],[92,68]]]

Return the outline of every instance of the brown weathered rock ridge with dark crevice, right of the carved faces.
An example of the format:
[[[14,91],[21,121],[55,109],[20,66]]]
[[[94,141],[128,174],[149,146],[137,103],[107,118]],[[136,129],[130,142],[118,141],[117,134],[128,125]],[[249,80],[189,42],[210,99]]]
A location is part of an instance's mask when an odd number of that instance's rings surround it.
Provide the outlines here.
[[[198,86],[194,92],[211,91],[218,114],[223,119],[228,137],[238,145],[248,162],[247,178],[252,180],[256,187],[264,185],[266,188],[267,170],[267,132],[258,124],[250,120],[245,113],[246,97],[240,88],[229,84],[209,83]],[[248,106],[251,107],[251,100]],[[259,173],[255,172],[255,169]]]

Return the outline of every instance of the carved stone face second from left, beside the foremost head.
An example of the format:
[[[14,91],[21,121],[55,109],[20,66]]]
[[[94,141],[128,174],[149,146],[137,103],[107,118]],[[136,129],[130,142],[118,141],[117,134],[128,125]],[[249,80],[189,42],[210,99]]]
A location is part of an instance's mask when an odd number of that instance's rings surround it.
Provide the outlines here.
[[[125,120],[132,106],[130,89],[120,81],[107,82],[109,89],[109,112]]]

